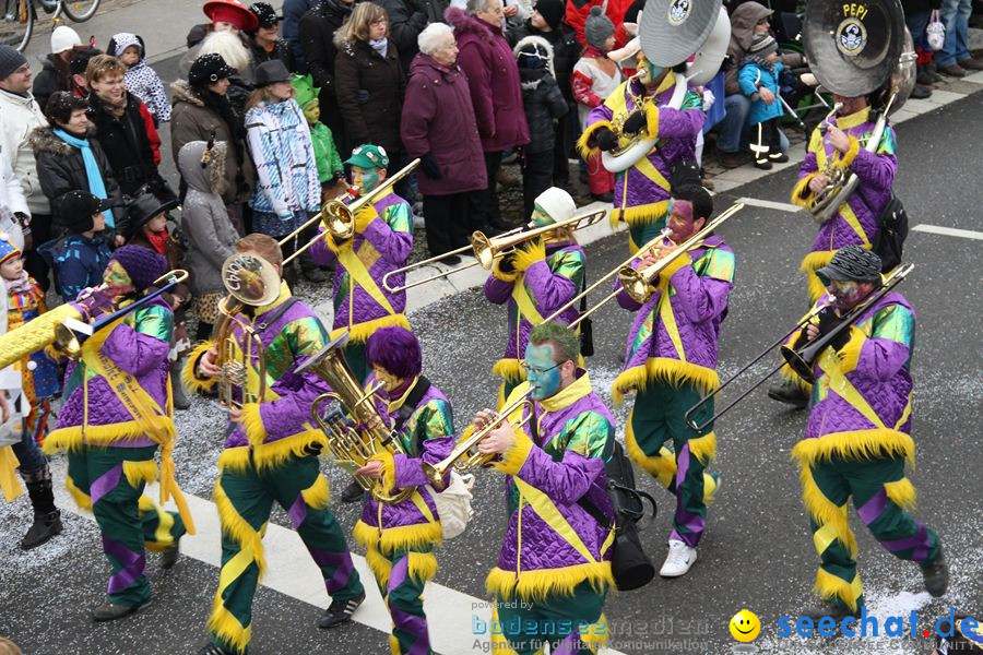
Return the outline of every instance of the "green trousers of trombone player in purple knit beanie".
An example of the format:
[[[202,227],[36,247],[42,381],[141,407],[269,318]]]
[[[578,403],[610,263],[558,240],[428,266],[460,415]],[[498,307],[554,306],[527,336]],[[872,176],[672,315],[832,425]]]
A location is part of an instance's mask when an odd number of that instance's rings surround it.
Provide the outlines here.
[[[163,550],[185,534],[176,512],[165,512],[143,496],[145,480],[156,475],[156,445],[83,448],[68,453],[66,486],[80,507],[92,508],[109,560],[109,603],[149,602],[144,548]]]

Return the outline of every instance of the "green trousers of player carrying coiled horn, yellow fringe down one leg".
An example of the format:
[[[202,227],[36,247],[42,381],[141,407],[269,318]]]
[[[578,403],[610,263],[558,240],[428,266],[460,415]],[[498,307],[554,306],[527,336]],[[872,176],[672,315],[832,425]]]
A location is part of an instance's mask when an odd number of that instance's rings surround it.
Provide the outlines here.
[[[252,597],[265,569],[262,536],[274,501],[320,568],[331,599],[348,600],[364,591],[345,535],[327,508],[327,480],[316,456],[291,457],[263,472],[251,463],[242,472],[225,468],[215,485],[222,571],[209,629],[213,643],[235,653],[245,653],[251,636]]]

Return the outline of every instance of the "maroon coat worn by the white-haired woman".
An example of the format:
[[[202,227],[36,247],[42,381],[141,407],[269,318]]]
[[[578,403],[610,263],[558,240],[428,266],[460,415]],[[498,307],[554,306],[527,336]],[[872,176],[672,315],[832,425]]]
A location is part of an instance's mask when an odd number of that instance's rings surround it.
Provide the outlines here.
[[[440,66],[423,52],[413,58],[400,136],[411,159],[429,153],[440,166],[436,180],[423,168],[416,171],[424,195],[451,195],[488,186],[471,91],[459,67]]]

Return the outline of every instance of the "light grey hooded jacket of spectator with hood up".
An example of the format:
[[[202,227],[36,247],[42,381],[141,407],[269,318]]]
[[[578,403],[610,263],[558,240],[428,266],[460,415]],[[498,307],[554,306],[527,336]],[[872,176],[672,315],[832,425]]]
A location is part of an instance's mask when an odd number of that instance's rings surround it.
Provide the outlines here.
[[[227,158],[223,155],[228,145],[216,142],[216,155],[203,168],[201,156],[206,145],[204,141],[192,142],[178,153],[178,170],[188,184],[181,213],[181,229],[188,237],[185,264],[191,274],[191,293],[194,295],[225,290],[222,264],[239,239],[221,195],[227,183],[224,176]]]

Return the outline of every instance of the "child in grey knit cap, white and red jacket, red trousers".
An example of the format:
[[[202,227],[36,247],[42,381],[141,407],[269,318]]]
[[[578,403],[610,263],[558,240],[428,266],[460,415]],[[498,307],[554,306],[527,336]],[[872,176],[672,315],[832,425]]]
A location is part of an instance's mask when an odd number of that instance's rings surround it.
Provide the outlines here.
[[[584,27],[587,49],[573,66],[571,85],[577,111],[580,115],[580,129],[587,128],[587,118],[591,109],[604,102],[621,83],[618,67],[607,58],[614,48],[614,23],[604,15],[600,7],[591,9]],[[602,202],[614,199],[614,174],[601,163],[601,154],[594,153],[587,159],[588,187],[591,196]]]

